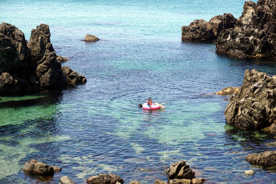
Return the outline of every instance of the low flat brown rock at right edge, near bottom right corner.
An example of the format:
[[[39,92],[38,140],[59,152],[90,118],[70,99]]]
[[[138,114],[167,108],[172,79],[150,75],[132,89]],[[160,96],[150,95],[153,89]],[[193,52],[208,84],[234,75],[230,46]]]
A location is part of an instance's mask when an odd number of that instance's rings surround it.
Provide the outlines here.
[[[275,166],[276,151],[265,151],[260,154],[248,154],[246,160],[254,165]]]

